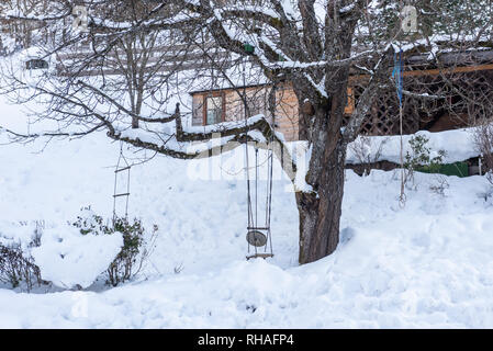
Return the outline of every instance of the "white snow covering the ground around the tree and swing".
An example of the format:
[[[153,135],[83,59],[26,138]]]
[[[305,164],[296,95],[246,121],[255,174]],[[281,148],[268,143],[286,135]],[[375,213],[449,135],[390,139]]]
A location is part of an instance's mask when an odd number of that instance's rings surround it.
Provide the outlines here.
[[[0,118],[24,123],[19,107],[4,103]],[[110,216],[119,148],[103,134],[1,145],[0,223],[60,224],[87,205]],[[194,179],[197,167],[159,156],[133,167],[130,214],[159,226],[136,281],[32,294],[0,288],[0,327],[493,327],[493,200],[485,179],[447,177],[438,194],[430,190],[437,176],[419,173],[401,210],[397,173],[348,171],[337,251],[298,267],[288,181],[274,183],[276,257],[247,262],[245,181]]]

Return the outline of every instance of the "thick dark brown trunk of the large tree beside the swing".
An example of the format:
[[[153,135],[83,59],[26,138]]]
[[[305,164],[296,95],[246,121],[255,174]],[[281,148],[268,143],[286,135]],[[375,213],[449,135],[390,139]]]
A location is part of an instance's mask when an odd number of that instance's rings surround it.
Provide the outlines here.
[[[307,133],[312,155],[306,183],[313,192],[298,192],[300,214],[300,264],[316,261],[335,251],[344,194],[346,143],[343,137],[348,71],[339,70],[330,98],[313,106]],[[306,133],[306,132],[305,132]]]

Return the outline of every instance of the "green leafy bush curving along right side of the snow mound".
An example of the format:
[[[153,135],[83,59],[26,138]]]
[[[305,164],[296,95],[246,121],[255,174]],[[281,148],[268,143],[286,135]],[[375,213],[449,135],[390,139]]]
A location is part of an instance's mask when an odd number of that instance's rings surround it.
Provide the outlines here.
[[[141,219],[128,220],[124,217],[115,217],[110,225],[102,216],[97,215],[90,207],[82,208],[82,213],[72,224],[82,235],[105,235],[112,236],[120,234],[123,238],[123,245],[120,252],[105,270],[107,283],[113,286],[131,280],[142,269],[144,261],[150,254],[150,251],[144,236],[146,230]],[[150,235],[154,241],[158,228],[155,225]]]

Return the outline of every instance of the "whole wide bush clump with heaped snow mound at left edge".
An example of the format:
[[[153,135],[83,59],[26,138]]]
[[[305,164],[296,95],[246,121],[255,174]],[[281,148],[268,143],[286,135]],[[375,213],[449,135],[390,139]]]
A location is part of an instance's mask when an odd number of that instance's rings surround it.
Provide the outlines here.
[[[90,207],[74,223],[0,223],[0,283],[31,291],[49,282],[86,288],[99,278],[116,286],[135,276],[154,247],[141,219],[104,219]]]

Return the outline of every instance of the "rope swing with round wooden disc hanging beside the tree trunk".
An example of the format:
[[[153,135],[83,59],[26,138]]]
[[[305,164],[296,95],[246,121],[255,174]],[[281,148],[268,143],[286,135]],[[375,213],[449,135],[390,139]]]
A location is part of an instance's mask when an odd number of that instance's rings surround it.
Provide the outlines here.
[[[248,43],[245,43],[245,53],[247,55],[254,53],[255,48]],[[249,117],[249,109],[247,106],[247,94],[246,94],[246,61],[243,57],[243,100],[244,100],[244,117],[245,126],[247,126],[247,121]],[[276,84],[272,87],[273,99],[276,99]],[[274,101],[272,106],[274,106]],[[272,127],[273,127],[273,111],[272,111]],[[273,135],[267,140],[267,194],[266,194],[266,208],[265,208],[265,220],[259,222],[259,161],[258,161],[258,147],[255,145],[255,179],[250,179],[250,167],[249,167],[249,152],[248,152],[248,136],[245,138],[245,172],[247,180],[247,212],[248,212],[248,225],[246,240],[248,242],[248,254],[247,260],[255,258],[271,258],[273,257],[272,251],[272,237],[270,231],[270,215],[272,205],[272,169],[273,169]],[[254,197],[255,194],[255,197]],[[254,199],[255,201],[254,201]]]

